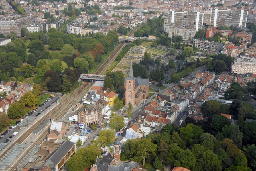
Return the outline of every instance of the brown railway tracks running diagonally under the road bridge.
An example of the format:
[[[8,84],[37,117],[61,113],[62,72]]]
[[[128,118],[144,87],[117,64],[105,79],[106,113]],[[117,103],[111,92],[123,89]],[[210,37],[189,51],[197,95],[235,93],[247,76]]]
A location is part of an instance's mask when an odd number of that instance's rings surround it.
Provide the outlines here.
[[[98,68],[97,71],[94,72],[94,74],[96,73],[103,73],[108,67],[109,65],[115,60],[115,57],[117,56],[117,54],[119,54],[119,52],[122,50],[122,48],[126,45],[126,43],[120,43],[119,46],[117,46],[116,50],[109,56],[109,58],[103,62],[103,64],[101,64],[101,66]],[[44,120],[44,119],[61,119],[62,117],[64,117],[64,115],[68,112],[68,110],[70,109],[70,107],[72,107],[72,104],[75,101],[78,101],[82,98],[82,95],[85,93],[85,91],[88,90],[88,88],[90,87],[90,83],[89,82],[83,82],[82,85],[80,85],[77,89],[75,89],[71,94],[68,95],[68,97],[66,97],[65,99],[63,99],[60,104],[56,107],[54,107],[54,109],[52,109],[50,112],[48,112],[47,114],[45,114],[42,118],[40,118],[38,121],[36,121],[36,123],[34,125],[31,125],[29,127],[29,129],[27,129],[27,131],[25,133],[22,134],[21,137],[19,137],[19,139],[17,139],[16,141],[14,141],[11,145],[9,145],[4,152],[2,152],[0,154],[0,159],[17,143],[23,143],[23,141],[25,141],[25,139],[27,137],[29,137],[29,135],[32,133],[32,131]],[[38,145],[42,142],[43,138],[47,135],[48,130],[44,131],[40,137],[38,137],[37,139],[39,139],[40,141],[37,141]],[[37,143],[34,143],[37,144]],[[31,145],[29,148],[26,149],[26,151],[21,154],[21,155],[27,155],[27,153],[33,148],[34,145]],[[19,164],[22,161],[23,157],[21,157],[19,160],[14,160],[15,161],[15,166],[17,166],[17,164]],[[16,170],[15,167],[7,167],[7,170]]]

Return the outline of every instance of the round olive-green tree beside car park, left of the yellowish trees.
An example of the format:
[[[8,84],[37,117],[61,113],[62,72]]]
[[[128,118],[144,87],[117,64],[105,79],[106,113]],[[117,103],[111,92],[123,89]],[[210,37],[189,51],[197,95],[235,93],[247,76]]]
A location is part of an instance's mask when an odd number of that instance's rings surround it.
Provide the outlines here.
[[[23,116],[24,113],[24,104],[15,102],[10,105],[8,108],[7,114],[10,119],[16,119]]]

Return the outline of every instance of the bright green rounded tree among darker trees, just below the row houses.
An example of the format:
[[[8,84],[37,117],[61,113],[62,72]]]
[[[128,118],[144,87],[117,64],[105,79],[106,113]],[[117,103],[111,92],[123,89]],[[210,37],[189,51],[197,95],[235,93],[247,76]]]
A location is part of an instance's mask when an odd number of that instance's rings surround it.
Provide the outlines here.
[[[203,133],[203,129],[193,124],[187,124],[186,127],[180,128],[180,135],[190,143],[199,139]]]

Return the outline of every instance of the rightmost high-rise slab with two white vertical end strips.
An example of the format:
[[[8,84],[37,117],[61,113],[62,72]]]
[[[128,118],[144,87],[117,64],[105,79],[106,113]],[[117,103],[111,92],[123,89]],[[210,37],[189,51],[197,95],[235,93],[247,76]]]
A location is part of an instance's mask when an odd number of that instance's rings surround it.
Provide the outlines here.
[[[245,10],[219,10],[211,12],[210,25],[213,27],[233,26],[234,28],[245,28],[248,11]]]

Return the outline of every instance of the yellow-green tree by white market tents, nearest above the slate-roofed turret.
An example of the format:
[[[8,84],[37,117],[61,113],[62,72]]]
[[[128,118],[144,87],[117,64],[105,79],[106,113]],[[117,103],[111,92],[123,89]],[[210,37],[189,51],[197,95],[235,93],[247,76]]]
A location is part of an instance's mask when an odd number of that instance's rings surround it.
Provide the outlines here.
[[[99,137],[96,140],[96,144],[102,146],[109,146],[115,141],[115,131],[110,129],[103,129],[99,132]]]

